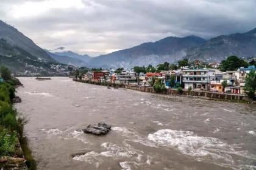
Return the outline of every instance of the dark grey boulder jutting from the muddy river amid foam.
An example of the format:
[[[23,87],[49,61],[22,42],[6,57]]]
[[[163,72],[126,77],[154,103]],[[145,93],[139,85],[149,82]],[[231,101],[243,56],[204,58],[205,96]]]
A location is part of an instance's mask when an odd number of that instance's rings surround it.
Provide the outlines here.
[[[85,129],[82,129],[86,134],[93,135],[105,135],[111,130],[111,126],[108,126],[106,123],[89,124]]]

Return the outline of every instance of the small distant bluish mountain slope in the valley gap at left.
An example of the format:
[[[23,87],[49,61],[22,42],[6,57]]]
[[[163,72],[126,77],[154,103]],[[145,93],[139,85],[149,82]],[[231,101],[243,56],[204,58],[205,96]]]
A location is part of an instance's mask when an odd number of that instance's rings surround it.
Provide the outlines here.
[[[72,58],[70,56],[65,56],[64,53],[62,53],[61,55],[57,55],[56,53],[51,53],[49,51],[46,52],[59,63],[68,64],[76,67],[88,66],[88,64],[85,63],[85,61],[77,58]]]

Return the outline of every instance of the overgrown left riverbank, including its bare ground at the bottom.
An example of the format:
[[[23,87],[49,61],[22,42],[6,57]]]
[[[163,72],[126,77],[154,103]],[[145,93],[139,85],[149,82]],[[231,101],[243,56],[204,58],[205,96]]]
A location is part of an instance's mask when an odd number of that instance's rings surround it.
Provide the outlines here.
[[[0,168],[34,170],[35,160],[24,136],[27,121],[13,107],[17,86],[22,84],[16,78],[0,83]]]

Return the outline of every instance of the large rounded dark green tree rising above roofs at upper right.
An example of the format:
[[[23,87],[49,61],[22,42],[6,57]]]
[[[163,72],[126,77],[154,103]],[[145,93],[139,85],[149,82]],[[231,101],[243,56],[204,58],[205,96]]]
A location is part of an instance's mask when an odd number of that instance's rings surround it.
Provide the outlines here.
[[[219,66],[222,72],[234,71],[240,67],[248,67],[248,63],[244,60],[241,60],[235,55],[229,56],[227,60],[222,60],[221,65]]]

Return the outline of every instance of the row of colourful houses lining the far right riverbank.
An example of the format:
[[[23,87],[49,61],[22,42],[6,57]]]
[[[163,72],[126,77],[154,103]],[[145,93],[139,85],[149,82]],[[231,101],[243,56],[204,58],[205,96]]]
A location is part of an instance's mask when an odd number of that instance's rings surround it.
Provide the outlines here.
[[[175,80],[175,86],[183,85],[184,89],[207,90],[211,92],[226,92],[229,94],[244,94],[244,83],[246,74],[251,70],[256,71],[255,66],[247,68],[240,67],[236,71],[221,72],[218,69],[188,69],[183,67],[179,70],[168,70],[162,72],[136,73],[133,70],[104,70],[101,72],[87,72],[82,80],[101,81],[116,84],[134,84],[138,86],[151,86],[152,79],[162,80],[166,88],[170,88],[170,80]],[[222,87],[226,81],[227,87]]]

